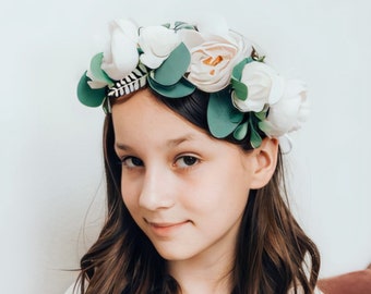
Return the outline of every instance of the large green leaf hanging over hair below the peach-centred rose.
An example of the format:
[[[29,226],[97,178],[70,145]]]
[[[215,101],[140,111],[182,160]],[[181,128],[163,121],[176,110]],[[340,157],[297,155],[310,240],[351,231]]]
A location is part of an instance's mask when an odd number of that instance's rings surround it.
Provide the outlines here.
[[[243,119],[232,105],[229,89],[210,95],[207,106],[207,123],[214,137],[224,138],[231,134]]]

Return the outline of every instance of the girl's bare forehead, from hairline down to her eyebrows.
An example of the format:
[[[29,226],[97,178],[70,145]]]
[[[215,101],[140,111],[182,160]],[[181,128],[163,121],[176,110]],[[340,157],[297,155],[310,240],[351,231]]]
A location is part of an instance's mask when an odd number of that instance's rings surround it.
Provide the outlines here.
[[[225,152],[239,147],[212,137],[159,102],[151,91],[140,91],[112,107],[116,148],[122,150],[171,150],[192,147]],[[223,151],[220,151],[223,149]]]

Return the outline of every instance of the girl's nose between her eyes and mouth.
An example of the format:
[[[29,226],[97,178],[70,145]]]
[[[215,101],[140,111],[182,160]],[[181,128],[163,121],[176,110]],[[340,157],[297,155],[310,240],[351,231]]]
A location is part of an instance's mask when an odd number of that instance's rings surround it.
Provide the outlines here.
[[[175,205],[175,179],[163,168],[146,169],[140,195],[140,206],[148,210],[166,209]]]

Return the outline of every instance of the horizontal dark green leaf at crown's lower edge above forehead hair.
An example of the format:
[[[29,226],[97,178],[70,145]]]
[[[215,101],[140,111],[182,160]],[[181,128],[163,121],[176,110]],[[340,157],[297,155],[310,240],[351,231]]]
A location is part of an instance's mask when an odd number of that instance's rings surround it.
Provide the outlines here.
[[[157,91],[167,98],[181,98],[191,95],[195,90],[195,86],[188,82],[185,78],[181,78],[177,84],[171,86],[164,86],[151,76],[147,77],[148,85],[152,89]]]

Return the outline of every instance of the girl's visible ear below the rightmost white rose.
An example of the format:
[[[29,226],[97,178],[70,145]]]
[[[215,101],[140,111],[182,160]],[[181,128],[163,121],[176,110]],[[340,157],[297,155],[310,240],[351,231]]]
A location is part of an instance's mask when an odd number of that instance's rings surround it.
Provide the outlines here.
[[[277,166],[278,139],[264,138],[262,145],[253,151],[254,170],[252,175],[251,188],[265,186]]]

